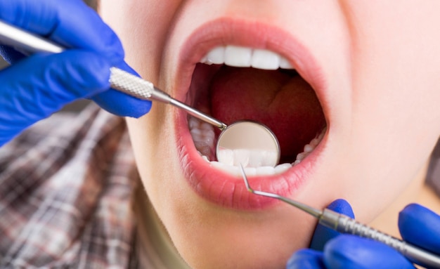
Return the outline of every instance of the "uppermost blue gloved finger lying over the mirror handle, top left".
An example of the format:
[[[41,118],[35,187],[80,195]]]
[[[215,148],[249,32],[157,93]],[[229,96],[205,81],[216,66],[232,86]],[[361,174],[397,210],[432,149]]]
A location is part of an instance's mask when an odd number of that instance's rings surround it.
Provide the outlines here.
[[[0,20],[67,48],[84,48],[105,55],[112,65],[124,58],[122,44],[115,32],[82,0],[0,1]]]

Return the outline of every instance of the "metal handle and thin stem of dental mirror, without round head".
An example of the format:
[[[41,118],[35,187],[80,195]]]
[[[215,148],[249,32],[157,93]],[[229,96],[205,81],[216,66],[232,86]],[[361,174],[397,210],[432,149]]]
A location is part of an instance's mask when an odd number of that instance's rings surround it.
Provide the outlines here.
[[[11,46],[25,54],[60,53],[65,51],[65,48],[52,41],[9,25],[1,20],[0,44]],[[150,81],[136,77],[134,74],[120,70],[117,67],[110,68],[110,85],[118,91],[122,91],[139,99],[156,100],[174,105],[175,107],[185,110],[188,114],[218,127],[222,131],[226,129],[226,124],[220,122],[218,119],[214,119],[199,110],[195,110],[193,107],[181,103],[179,100],[172,98],[167,93],[164,93],[164,91],[156,88]]]

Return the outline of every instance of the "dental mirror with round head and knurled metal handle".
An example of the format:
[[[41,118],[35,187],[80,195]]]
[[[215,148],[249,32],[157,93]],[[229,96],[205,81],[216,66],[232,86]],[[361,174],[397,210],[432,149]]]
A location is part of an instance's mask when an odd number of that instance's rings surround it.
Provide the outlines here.
[[[23,29],[9,25],[0,20],[0,44],[11,46],[25,54],[31,53],[60,53],[65,50],[62,46],[32,34]],[[270,165],[275,166],[280,159],[280,145],[276,136],[263,124],[258,122],[240,121],[230,126],[226,126],[223,122],[211,117],[193,107],[190,107],[179,100],[169,96],[164,91],[156,88],[153,83],[136,77],[129,72],[120,70],[117,67],[110,68],[110,84],[112,88],[129,94],[143,100],[156,100],[162,103],[174,105],[188,114],[196,117],[203,122],[212,124],[221,130],[221,135],[217,140],[216,155],[221,162],[224,156],[220,156],[221,150],[227,148],[230,150],[254,150],[274,152],[266,159],[270,160]],[[245,136],[240,135],[245,132]],[[241,141],[240,144],[231,143],[231,137],[242,138],[236,139]]]

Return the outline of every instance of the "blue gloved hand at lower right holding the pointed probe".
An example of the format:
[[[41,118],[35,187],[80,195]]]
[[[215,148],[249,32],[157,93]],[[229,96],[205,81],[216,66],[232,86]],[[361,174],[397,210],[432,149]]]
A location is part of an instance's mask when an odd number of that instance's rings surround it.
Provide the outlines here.
[[[351,207],[344,200],[336,200],[328,208],[352,215]],[[419,204],[409,204],[399,214],[399,230],[403,239],[435,254],[440,254],[439,227],[440,216]],[[337,235],[327,229],[318,225],[311,244],[318,249],[297,251],[288,261],[287,268],[415,268],[398,251],[385,244],[355,235]]]

